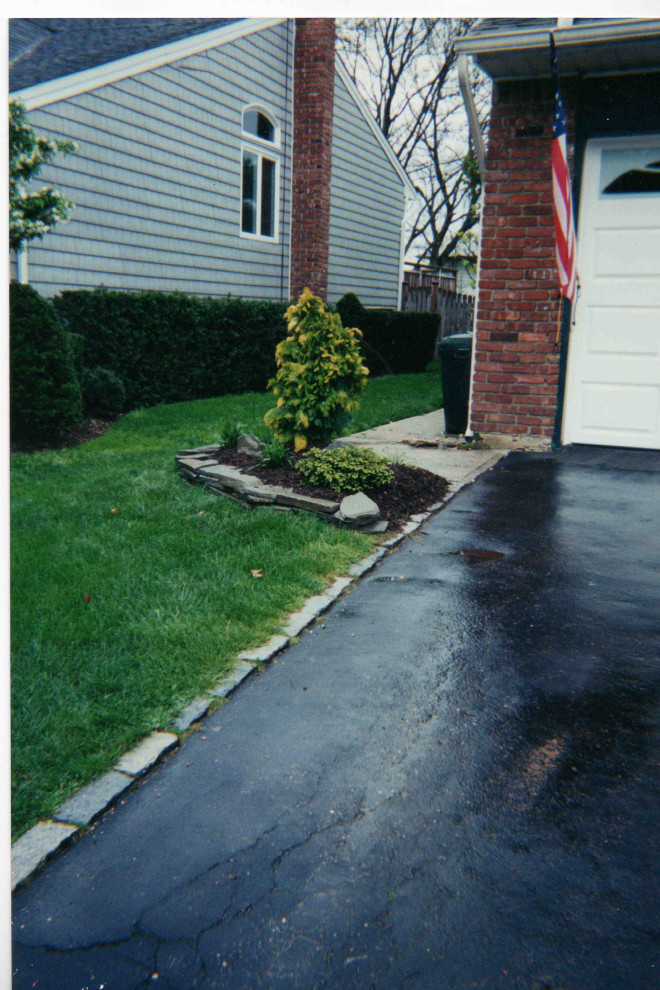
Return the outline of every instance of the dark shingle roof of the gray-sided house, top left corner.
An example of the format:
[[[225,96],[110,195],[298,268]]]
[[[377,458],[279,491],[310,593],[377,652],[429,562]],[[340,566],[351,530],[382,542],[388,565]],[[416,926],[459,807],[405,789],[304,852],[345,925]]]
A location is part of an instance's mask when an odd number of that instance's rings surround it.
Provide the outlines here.
[[[9,21],[9,89],[67,76],[241,18],[38,17]]]

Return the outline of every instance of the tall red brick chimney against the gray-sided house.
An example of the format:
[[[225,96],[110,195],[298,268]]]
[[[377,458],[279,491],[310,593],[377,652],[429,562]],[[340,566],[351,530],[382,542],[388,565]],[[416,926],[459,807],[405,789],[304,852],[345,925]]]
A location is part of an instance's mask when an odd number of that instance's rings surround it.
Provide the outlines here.
[[[293,73],[291,296],[326,298],[335,87],[335,22],[296,18]]]

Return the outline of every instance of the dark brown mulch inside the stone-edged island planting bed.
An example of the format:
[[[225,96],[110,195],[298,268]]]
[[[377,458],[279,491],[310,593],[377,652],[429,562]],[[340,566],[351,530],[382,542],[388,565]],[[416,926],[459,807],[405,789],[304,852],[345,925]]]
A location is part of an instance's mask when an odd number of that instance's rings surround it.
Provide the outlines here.
[[[253,458],[239,454],[236,449],[221,447],[214,459],[218,464],[227,464],[240,468],[245,474],[256,475],[265,484],[293,488],[301,495],[340,502],[344,496],[351,494],[306,485],[295,467],[256,467]],[[377,503],[382,518],[389,523],[389,529],[395,530],[414,513],[424,512],[429,506],[439,502],[447,491],[447,482],[437,474],[408,464],[393,464],[392,470],[394,481],[390,485],[375,491],[365,491],[365,494]]]

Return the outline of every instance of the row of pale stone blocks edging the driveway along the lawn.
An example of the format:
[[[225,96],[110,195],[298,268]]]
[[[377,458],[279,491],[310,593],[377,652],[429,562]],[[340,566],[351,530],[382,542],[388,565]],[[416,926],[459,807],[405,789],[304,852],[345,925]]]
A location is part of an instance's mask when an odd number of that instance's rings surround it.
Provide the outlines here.
[[[202,719],[215,699],[228,698],[260,665],[290,645],[291,641],[311,625],[328,609],[343,592],[370,571],[382,558],[413,533],[429,516],[444,508],[447,502],[465,485],[450,484],[440,502],[432,505],[427,512],[420,512],[410,520],[396,536],[385,540],[373,553],[353,564],[347,577],[336,578],[325,592],[308,598],[301,609],[292,612],[283,627],[281,635],[271,638],[254,650],[245,650],[238,656],[232,670],[211,687],[206,695],[195,698],[173,722],[171,730],[157,730],[142,739],[137,746],[128,750],[114,767],[105,774],[86,784],[64,804],[53,812],[50,819],[38,822],[12,845],[12,891],[35,873],[47,859],[62,849],[80,832],[87,828],[107,808],[137,780],[143,777],[166,753],[178,747],[178,733],[187,732]]]

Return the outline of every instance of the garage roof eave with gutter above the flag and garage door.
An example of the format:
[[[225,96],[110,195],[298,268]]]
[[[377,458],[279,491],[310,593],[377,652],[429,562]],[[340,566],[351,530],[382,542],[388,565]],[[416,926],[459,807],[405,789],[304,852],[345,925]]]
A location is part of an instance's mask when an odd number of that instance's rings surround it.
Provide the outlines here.
[[[550,75],[554,34],[562,75],[604,75],[660,69],[660,19],[484,18],[456,42],[493,79]]]

